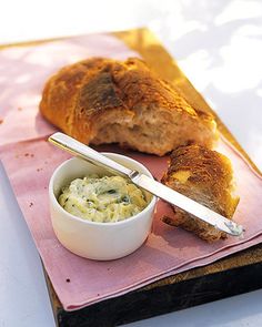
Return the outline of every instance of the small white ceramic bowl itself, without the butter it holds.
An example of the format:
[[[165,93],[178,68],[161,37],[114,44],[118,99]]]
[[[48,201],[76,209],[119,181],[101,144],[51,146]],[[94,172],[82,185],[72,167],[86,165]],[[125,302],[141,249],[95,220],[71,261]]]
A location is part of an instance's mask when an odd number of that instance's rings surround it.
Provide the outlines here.
[[[139,162],[115,153],[104,155],[150,177],[151,173]],[[70,159],[57,167],[49,183],[50,212],[54,233],[61,244],[72,253],[98,260],[117,259],[139,248],[151,232],[157,197],[139,214],[117,223],[84,221],[64,211],[58,203],[61,188],[77,177],[88,174],[112,175],[81,159]],[[153,177],[152,177],[153,178]]]

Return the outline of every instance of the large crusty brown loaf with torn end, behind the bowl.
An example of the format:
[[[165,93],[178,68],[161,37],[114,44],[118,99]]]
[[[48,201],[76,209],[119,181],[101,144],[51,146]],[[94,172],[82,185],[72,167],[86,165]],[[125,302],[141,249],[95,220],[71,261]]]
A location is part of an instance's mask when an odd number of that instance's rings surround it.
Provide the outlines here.
[[[179,145],[212,147],[212,115],[193,109],[140,59],[93,58],[61,69],[47,82],[40,111],[89,144],[119,143],[163,155]]]

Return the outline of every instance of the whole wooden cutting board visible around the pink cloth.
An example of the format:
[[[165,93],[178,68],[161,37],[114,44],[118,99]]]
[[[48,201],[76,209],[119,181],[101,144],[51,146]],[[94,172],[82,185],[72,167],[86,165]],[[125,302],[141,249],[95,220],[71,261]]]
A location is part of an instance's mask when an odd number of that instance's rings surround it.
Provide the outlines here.
[[[193,108],[212,112],[220,132],[260,173],[238,141],[189,82],[152,32],[148,29],[135,29],[112,34],[127,43],[129,48],[139,52],[163,79],[179,86]],[[0,49],[13,45],[27,47],[42,42],[46,41],[9,44],[0,47]],[[47,274],[46,279],[58,326],[108,327],[254,290],[262,287],[261,276],[262,245],[256,245],[211,265],[163,278],[125,295],[70,313],[63,310]]]

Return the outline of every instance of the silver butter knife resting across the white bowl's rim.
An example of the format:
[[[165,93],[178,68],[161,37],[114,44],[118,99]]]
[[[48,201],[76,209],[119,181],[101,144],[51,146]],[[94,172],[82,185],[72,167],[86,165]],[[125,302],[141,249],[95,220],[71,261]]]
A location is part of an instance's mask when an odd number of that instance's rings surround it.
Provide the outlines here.
[[[130,178],[133,184],[149,191],[158,197],[180,207],[181,210],[194,215],[201,221],[214,226],[233,236],[240,236],[243,233],[243,226],[225,218],[224,216],[211,211],[206,206],[184,196],[183,194],[150,178],[149,176],[132,171],[113,160],[102,155],[88,145],[70,137],[63,133],[54,133],[49,137],[49,142],[61,147],[71,154],[84,159],[85,161],[101,166],[117,175]]]

